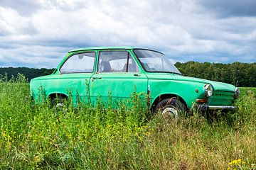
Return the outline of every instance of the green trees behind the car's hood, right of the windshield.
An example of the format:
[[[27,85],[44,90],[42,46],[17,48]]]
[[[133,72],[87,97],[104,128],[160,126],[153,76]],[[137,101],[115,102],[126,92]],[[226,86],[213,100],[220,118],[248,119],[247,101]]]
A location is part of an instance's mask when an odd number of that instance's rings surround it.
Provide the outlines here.
[[[176,67],[188,77],[221,81],[235,86],[256,87],[256,62],[232,64],[177,62]]]

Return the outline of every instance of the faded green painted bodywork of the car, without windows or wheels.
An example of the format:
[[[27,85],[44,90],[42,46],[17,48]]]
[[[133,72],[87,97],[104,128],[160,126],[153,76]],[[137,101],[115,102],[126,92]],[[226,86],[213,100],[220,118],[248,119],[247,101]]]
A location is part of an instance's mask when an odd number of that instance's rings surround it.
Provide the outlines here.
[[[191,108],[196,99],[207,98],[204,86],[205,84],[211,84],[214,91],[213,96],[208,100],[208,105],[231,106],[233,104],[235,86],[206,79],[184,77],[178,74],[146,72],[132,52],[134,49],[134,47],[90,47],[72,50],[60,62],[55,73],[31,80],[31,95],[38,98],[38,89],[42,86],[46,91],[46,96],[63,94],[72,97],[73,101],[76,101],[79,96],[83,101],[89,99],[95,102],[98,96],[101,96],[102,99],[108,98],[110,91],[114,98],[129,98],[130,94],[136,89],[138,93],[144,92],[147,94],[150,91],[151,105],[159,96],[170,95],[182,98],[186,106]],[[102,50],[125,50],[130,52],[140,71],[138,73],[97,73],[98,54]],[[61,74],[60,67],[68,57],[80,52],[96,52],[93,72]]]

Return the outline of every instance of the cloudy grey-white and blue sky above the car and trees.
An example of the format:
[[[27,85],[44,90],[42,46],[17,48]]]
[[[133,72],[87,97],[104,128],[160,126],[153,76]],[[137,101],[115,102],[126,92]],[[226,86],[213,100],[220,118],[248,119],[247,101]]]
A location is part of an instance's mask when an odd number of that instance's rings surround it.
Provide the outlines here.
[[[54,68],[79,47],[172,62],[256,62],[255,0],[0,0],[0,67]]]

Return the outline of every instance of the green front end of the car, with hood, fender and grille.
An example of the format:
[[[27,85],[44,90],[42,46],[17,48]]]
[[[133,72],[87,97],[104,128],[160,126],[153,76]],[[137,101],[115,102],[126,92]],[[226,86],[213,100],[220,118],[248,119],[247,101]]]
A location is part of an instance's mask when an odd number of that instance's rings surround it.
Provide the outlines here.
[[[175,94],[183,98],[188,108],[191,108],[196,99],[206,98],[204,94],[205,84],[213,86],[213,96],[209,98],[211,106],[230,106],[234,101],[235,86],[231,84],[166,73],[150,73],[147,74],[147,77],[149,78],[153,101],[159,95]],[[198,93],[196,89],[198,89]],[[229,94],[230,96],[225,98],[224,96],[215,96],[215,94]]]

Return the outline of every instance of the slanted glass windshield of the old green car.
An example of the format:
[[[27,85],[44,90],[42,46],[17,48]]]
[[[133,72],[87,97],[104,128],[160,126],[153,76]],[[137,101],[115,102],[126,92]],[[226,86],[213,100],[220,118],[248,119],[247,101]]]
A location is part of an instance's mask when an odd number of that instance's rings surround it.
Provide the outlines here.
[[[173,72],[181,74],[161,52],[151,50],[134,50],[135,55],[147,72]]]

